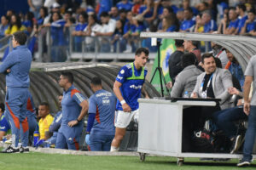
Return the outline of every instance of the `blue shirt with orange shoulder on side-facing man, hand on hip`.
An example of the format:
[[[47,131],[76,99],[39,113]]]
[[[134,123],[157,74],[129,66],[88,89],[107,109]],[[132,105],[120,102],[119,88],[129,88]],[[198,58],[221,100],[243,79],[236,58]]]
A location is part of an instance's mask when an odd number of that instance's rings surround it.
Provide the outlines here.
[[[81,112],[80,104],[85,100],[81,92],[73,85],[63,92],[62,106],[62,120],[61,127],[68,127],[67,123],[77,120]],[[82,124],[82,122],[79,122]]]

